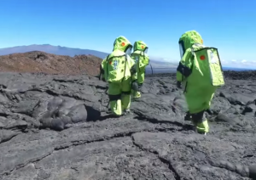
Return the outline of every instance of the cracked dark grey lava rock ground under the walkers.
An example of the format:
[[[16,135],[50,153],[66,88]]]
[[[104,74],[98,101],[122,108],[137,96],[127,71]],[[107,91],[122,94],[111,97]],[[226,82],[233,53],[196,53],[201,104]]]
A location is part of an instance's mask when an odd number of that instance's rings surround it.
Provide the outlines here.
[[[131,115],[108,115],[94,76],[0,73],[0,179],[246,180],[255,176],[255,72],[227,72],[191,131],[175,75],[147,76]]]

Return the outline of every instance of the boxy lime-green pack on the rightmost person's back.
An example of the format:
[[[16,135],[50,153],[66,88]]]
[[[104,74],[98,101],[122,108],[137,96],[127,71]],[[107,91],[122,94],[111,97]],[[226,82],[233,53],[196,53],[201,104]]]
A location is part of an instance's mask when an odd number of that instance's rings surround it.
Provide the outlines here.
[[[198,81],[212,84],[213,87],[224,86],[224,75],[218,55],[218,49],[203,47],[198,50],[191,48],[193,55],[192,74]]]

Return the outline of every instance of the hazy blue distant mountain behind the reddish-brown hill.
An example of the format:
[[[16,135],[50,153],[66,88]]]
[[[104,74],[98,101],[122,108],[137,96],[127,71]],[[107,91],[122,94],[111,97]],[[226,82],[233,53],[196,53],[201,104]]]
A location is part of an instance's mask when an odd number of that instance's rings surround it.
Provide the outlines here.
[[[67,55],[75,56],[80,54],[91,54],[101,59],[105,58],[108,53],[103,53],[101,51],[95,51],[90,49],[81,49],[81,48],[67,48],[61,46],[52,46],[49,44],[43,45],[29,45],[29,46],[17,46],[12,48],[0,48],[0,55],[8,55],[10,53],[26,53],[31,51],[43,51],[45,53],[54,53],[56,55]]]

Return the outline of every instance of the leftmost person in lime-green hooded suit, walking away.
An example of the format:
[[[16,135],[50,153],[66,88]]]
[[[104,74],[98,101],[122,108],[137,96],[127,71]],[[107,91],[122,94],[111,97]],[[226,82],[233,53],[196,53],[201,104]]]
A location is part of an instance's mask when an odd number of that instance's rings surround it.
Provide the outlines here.
[[[101,76],[108,82],[108,98],[113,115],[130,112],[131,88],[137,90],[136,65],[131,59],[132,45],[120,36],[113,42],[113,52],[102,60]]]

